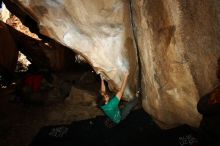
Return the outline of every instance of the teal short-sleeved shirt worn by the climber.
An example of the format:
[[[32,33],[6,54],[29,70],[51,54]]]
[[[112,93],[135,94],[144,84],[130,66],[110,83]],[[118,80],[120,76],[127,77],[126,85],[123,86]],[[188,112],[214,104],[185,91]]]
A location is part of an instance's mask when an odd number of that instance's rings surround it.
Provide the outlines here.
[[[118,97],[114,96],[107,104],[101,106],[104,113],[117,124],[121,121],[121,114],[118,108],[119,102]]]

